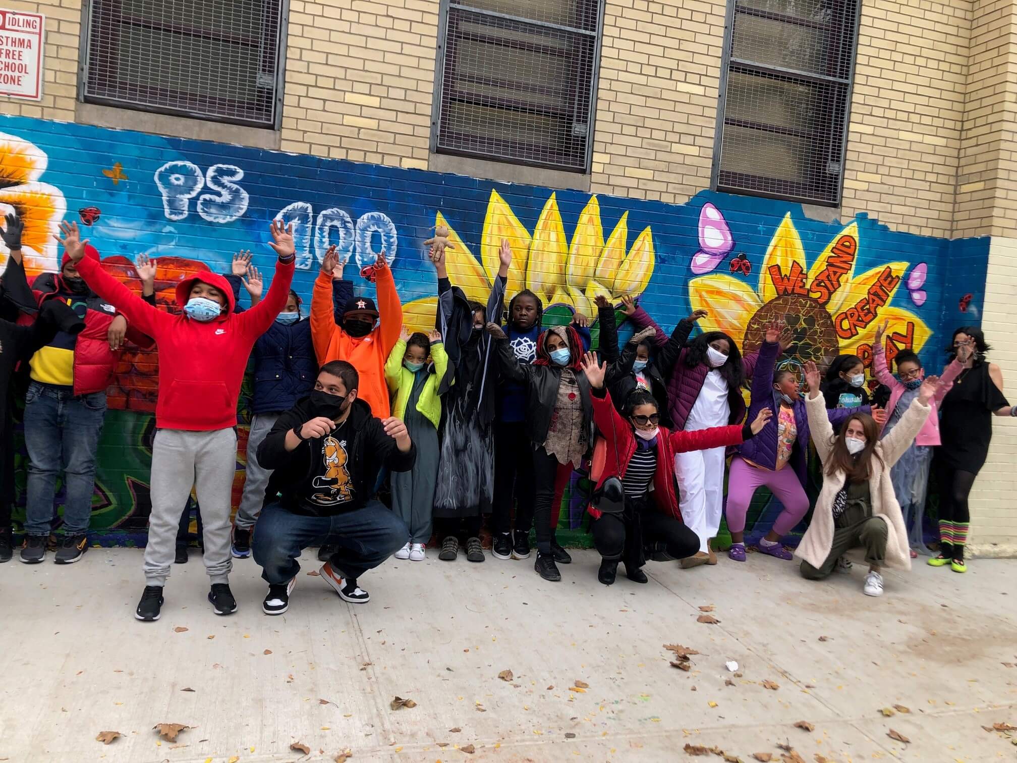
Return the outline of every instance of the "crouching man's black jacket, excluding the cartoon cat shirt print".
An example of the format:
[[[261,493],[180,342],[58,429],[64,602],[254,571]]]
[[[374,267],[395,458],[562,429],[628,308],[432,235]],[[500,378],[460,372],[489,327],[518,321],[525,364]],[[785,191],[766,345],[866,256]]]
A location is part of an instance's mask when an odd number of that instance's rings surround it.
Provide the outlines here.
[[[371,408],[362,400],[353,401],[353,410],[346,420],[348,438],[352,444],[346,449],[345,467],[353,486],[353,501],[335,507],[312,509],[301,501],[301,491],[318,467],[321,437],[306,439],[292,451],[286,450],[286,433],[314,418],[310,398],[301,398],[297,404],[276,421],[257,449],[257,461],[262,469],[274,469],[265,501],[279,497],[283,506],[294,514],[331,517],[359,509],[371,497],[381,467],[390,471],[408,472],[417,460],[417,446],[412,444],[408,453],[401,453],[396,441],[384,432],[381,419],[371,415]]]

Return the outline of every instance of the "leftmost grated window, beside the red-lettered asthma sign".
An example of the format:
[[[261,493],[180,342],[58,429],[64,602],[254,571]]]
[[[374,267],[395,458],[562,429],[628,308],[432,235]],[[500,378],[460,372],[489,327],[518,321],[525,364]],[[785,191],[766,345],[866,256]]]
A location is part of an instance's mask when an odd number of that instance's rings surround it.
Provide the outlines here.
[[[92,0],[89,103],[275,127],[286,0]]]

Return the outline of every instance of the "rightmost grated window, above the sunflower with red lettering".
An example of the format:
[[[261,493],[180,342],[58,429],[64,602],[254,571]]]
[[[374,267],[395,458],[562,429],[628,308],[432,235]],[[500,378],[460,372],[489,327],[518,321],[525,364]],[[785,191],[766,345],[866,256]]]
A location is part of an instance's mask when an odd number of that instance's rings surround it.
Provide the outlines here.
[[[840,201],[857,0],[731,0],[714,187]]]

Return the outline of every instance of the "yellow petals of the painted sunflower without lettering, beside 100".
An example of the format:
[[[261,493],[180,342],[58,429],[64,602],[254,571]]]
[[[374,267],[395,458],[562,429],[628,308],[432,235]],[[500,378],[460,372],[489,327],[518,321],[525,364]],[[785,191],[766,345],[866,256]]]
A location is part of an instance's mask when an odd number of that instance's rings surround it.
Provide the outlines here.
[[[445,267],[453,285],[468,299],[486,303],[498,272],[498,249],[507,240],[513,249],[505,294],[522,289],[536,293],[544,306],[563,304],[593,316],[593,300],[600,294],[617,299],[642,294],[653,276],[653,233],[646,227],[627,249],[629,213],[618,220],[607,239],[600,220],[600,202],[590,196],[580,213],[570,240],[561,222],[554,193],[541,210],[531,234],[512,207],[492,190],[480,236],[480,258],[438,212],[434,225],[448,228],[452,246],[445,250]],[[436,297],[424,297],[403,306],[404,321],[412,331],[434,326]]]

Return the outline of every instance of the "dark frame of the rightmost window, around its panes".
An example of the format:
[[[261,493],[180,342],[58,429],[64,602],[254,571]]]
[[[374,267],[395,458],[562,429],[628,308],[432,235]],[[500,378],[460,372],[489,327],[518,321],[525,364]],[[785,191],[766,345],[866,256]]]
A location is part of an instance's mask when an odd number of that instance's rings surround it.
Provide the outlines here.
[[[714,141],[711,187],[716,191],[740,193],[744,195],[779,198],[801,203],[824,207],[839,207],[843,197],[844,163],[847,154],[847,131],[851,116],[851,99],[854,91],[854,69],[858,50],[858,26],[861,16],[861,0],[845,0],[853,7],[845,12],[840,22],[820,21],[787,13],[769,11],[744,5],[741,0],[729,0],[724,26],[724,48],[720,75],[720,93],[717,107],[717,127]],[[762,63],[732,56],[734,28],[738,15],[765,18],[781,23],[805,28],[826,30],[832,40],[827,48],[827,63],[824,72],[810,72],[774,64]],[[853,17],[849,17],[853,16]],[[849,46],[847,55],[842,55]],[[821,119],[817,130],[783,127],[780,125],[751,123],[735,117],[728,117],[728,77],[731,73],[758,76],[761,79],[777,78],[816,89],[825,89],[829,96],[828,114]],[[793,134],[811,139],[816,146],[815,156],[823,157],[830,165],[836,165],[836,173],[826,177],[817,175],[812,182],[791,183],[779,178],[749,173],[734,173],[721,169],[724,127],[749,127],[761,132]],[[822,132],[825,130],[825,133]]]

